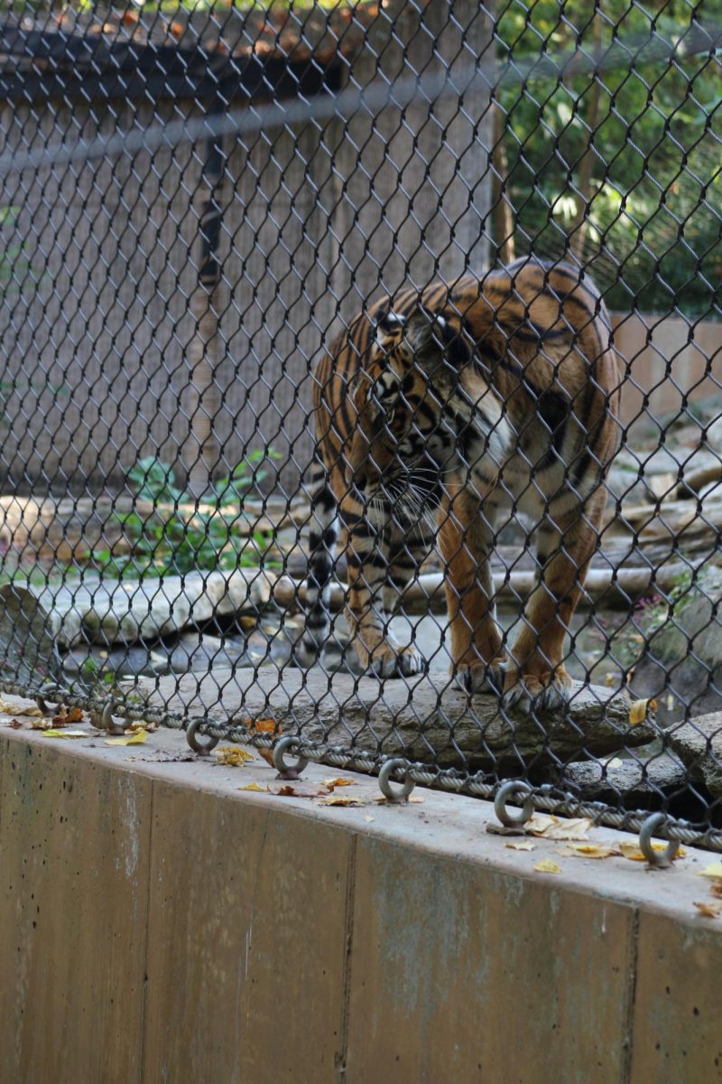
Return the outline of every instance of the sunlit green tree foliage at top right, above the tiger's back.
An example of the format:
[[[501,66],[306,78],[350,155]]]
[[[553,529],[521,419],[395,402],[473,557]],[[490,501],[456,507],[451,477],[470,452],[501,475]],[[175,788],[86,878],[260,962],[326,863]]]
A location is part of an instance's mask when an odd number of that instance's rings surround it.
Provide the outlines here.
[[[561,255],[567,237],[580,241],[587,210],[581,255],[612,308],[719,315],[720,63],[709,51],[685,53],[684,37],[694,23],[721,22],[720,0],[694,9],[685,0],[511,0],[499,10],[501,61],[524,68],[542,51],[556,63],[576,53],[576,68],[560,76],[502,80],[516,237]],[[681,43],[674,63],[643,47],[652,31]],[[615,39],[639,48],[629,53]],[[580,49],[601,61],[596,78]]]

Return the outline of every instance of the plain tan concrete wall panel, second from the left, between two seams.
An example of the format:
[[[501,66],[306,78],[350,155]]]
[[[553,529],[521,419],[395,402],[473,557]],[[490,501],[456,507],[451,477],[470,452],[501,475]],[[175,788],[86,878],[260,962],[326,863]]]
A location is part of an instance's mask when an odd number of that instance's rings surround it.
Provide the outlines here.
[[[336,1082],[351,838],[161,780],[150,830],[143,1079]]]

